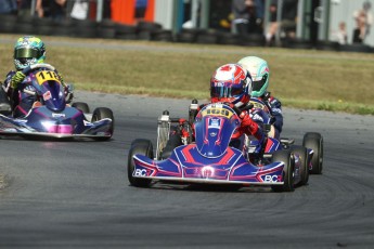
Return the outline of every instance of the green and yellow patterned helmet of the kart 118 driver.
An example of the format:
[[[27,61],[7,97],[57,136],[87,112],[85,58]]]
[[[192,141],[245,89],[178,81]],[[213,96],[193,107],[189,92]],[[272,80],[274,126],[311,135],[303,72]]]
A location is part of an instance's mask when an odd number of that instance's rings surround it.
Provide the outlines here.
[[[18,38],[14,45],[13,58],[17,70],[22,70],[33,64],[43,63],[46,58],[44,42],[33,36]]]

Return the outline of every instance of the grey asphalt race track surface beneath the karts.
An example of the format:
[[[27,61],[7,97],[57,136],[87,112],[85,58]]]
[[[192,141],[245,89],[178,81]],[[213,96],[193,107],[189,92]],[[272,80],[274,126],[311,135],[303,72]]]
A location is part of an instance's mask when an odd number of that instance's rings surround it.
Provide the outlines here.
[[[77,92],[113,109],[108,142],[0,140],[0,248],[374,248],[374,117],[284,108],[283,136],[324,136],[322,175],[293,193],[155,185],[126,175],[131,141],[190,101]]]

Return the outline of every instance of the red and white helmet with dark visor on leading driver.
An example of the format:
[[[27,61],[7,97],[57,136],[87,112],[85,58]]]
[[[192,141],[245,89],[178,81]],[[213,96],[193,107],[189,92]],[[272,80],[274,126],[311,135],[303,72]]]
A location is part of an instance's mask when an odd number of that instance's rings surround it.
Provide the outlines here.
[[[249,102],[250,92],[250,75],[238,64],[220,66],[211,76],[211,103],[229,102],[236,107],[241,107]]]

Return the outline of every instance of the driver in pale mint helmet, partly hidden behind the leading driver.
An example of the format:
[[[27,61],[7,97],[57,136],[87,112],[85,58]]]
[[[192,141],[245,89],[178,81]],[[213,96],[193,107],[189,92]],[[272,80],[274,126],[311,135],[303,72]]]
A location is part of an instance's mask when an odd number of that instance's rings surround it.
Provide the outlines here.
[[[270,114],[272,116],[271,122],[274,129],[271,129],[268,135],[270,137],[279,139],[283,127],[282,104],[278,99],[272,96],[270,92],[267,91],[270,79],[270,69],[268,63],[257,56],[247,56],[240,60],[237,64],[247,69],[252,76],[252,97],[257,97],[263,101],[270,109]]]

